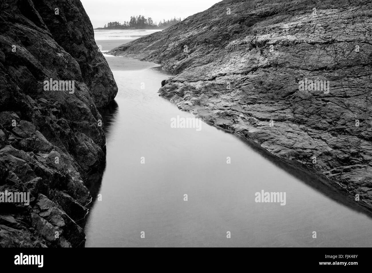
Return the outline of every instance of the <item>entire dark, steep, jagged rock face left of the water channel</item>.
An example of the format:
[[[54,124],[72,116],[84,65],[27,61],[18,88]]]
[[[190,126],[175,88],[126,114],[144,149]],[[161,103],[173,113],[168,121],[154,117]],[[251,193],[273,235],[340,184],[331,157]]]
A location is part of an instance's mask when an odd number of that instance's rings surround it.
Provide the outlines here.
[[[0,30],[0,200],[30,197],[0,202],[0,247],[84,246],[76,221],[84,178],[105,161],[97,107],[115,97],[113,75],[80,1],[3,0]]]

